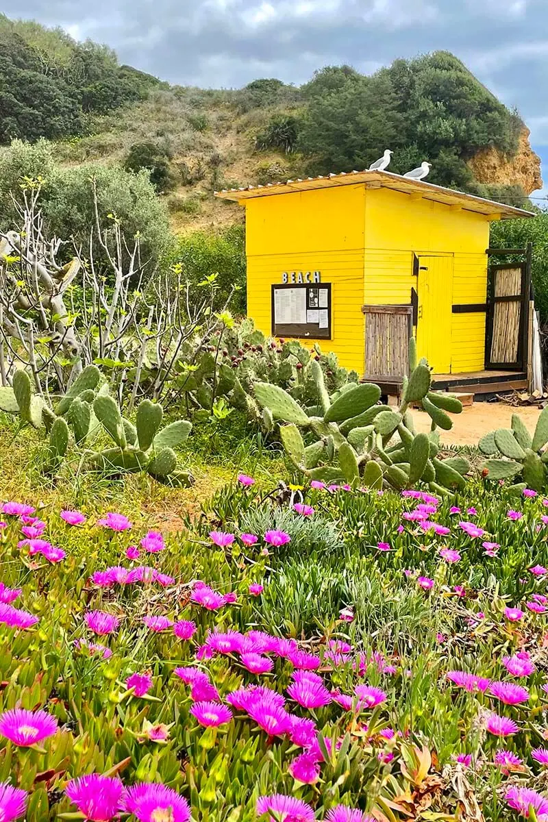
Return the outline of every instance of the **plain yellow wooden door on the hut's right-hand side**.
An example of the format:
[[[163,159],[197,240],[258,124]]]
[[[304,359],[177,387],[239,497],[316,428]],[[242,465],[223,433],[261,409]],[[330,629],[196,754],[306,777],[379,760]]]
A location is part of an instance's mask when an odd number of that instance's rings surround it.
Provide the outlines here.
[[[451,371],[453,256],[419,256],[417,353],[435,374]]]

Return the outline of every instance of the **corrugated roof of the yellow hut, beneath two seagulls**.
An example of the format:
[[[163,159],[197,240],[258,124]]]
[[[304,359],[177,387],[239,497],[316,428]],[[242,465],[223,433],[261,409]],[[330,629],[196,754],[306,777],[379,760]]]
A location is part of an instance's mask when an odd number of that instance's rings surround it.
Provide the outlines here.
[[[417,199],[432,200],[444,205],[457,205],[467,211],[475,211],[482,215],[500,215],[500,219],[513,217],[534,217],[532,211],[514,208],[513,205],[504,205],[494,200],[486,200],[465,192],[457,192],[453,188],[435,186],[426,180],[413,180],[394,174],[391,171],[350,171],[340,174],[320,175],[305,179],[288,180],[287,182],[268,182],[265,186],[247,186],[242,188],[224,188],[221,192],[214,192],[217,197],[226,200],[242,202],[254,197],[272,196],[274,194],[288,194],[290,192],[306,192],[316,188],[331,188],[335,186],[352,186],[365,184],[368,188],[391,188],[397,192],[416,195]]]

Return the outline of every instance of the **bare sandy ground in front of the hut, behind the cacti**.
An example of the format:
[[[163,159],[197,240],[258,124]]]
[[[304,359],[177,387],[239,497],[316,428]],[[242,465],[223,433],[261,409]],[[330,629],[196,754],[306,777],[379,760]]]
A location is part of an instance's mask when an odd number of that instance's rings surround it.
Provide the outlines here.
[[[463,413],[451,414],[453,428],[441,431],[441,441],[446,445],[475,446],[484,434],[495,428],[509,428],[513,413],[518,413],[529,431],[535,430],[540,409],[532,406],[514,408],[505,403],[474,403],[464,408]],[[429,431],[431,418],[424,411],[412,409],[413,420],[417,431]]]

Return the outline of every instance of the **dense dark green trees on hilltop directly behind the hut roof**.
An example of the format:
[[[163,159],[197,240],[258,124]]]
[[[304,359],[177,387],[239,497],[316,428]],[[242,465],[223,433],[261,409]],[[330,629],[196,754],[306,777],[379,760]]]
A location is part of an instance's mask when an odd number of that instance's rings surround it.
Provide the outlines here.
[[[447,52],[396,60],[371,76],[328,67],[302,94],[297,145],[315,173],[367,168],[389,147],[391,171],[428,159],[431,182],[474,190],[466,160],[487,145],[512,155],[522,125]]]

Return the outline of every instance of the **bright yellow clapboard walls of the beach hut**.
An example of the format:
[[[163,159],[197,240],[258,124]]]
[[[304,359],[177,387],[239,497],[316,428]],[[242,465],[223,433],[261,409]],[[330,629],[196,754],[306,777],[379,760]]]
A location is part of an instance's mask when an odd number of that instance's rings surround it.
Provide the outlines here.
[[[431,268],[444,272],[447,290],[440,290],[438,279],[440,311],[428,304],[418,339],[429,340],[434,359],[439,339],[440,363],[451,372],[478,371],[484,367],[486,316],[451,313],[448,301],[486,301],[488,245],[485,216],[384,187],[357,184],[257,197],[246,201],[247,312],[270,334],[271,285],[282,282],[283,271],[320,270],[321,281],[332,284],[332,339],[319,344],[362,374],[361,306],[408,304],[411,289],[418,287],[413,253],[444,256],[443,265],[432,261]]]

